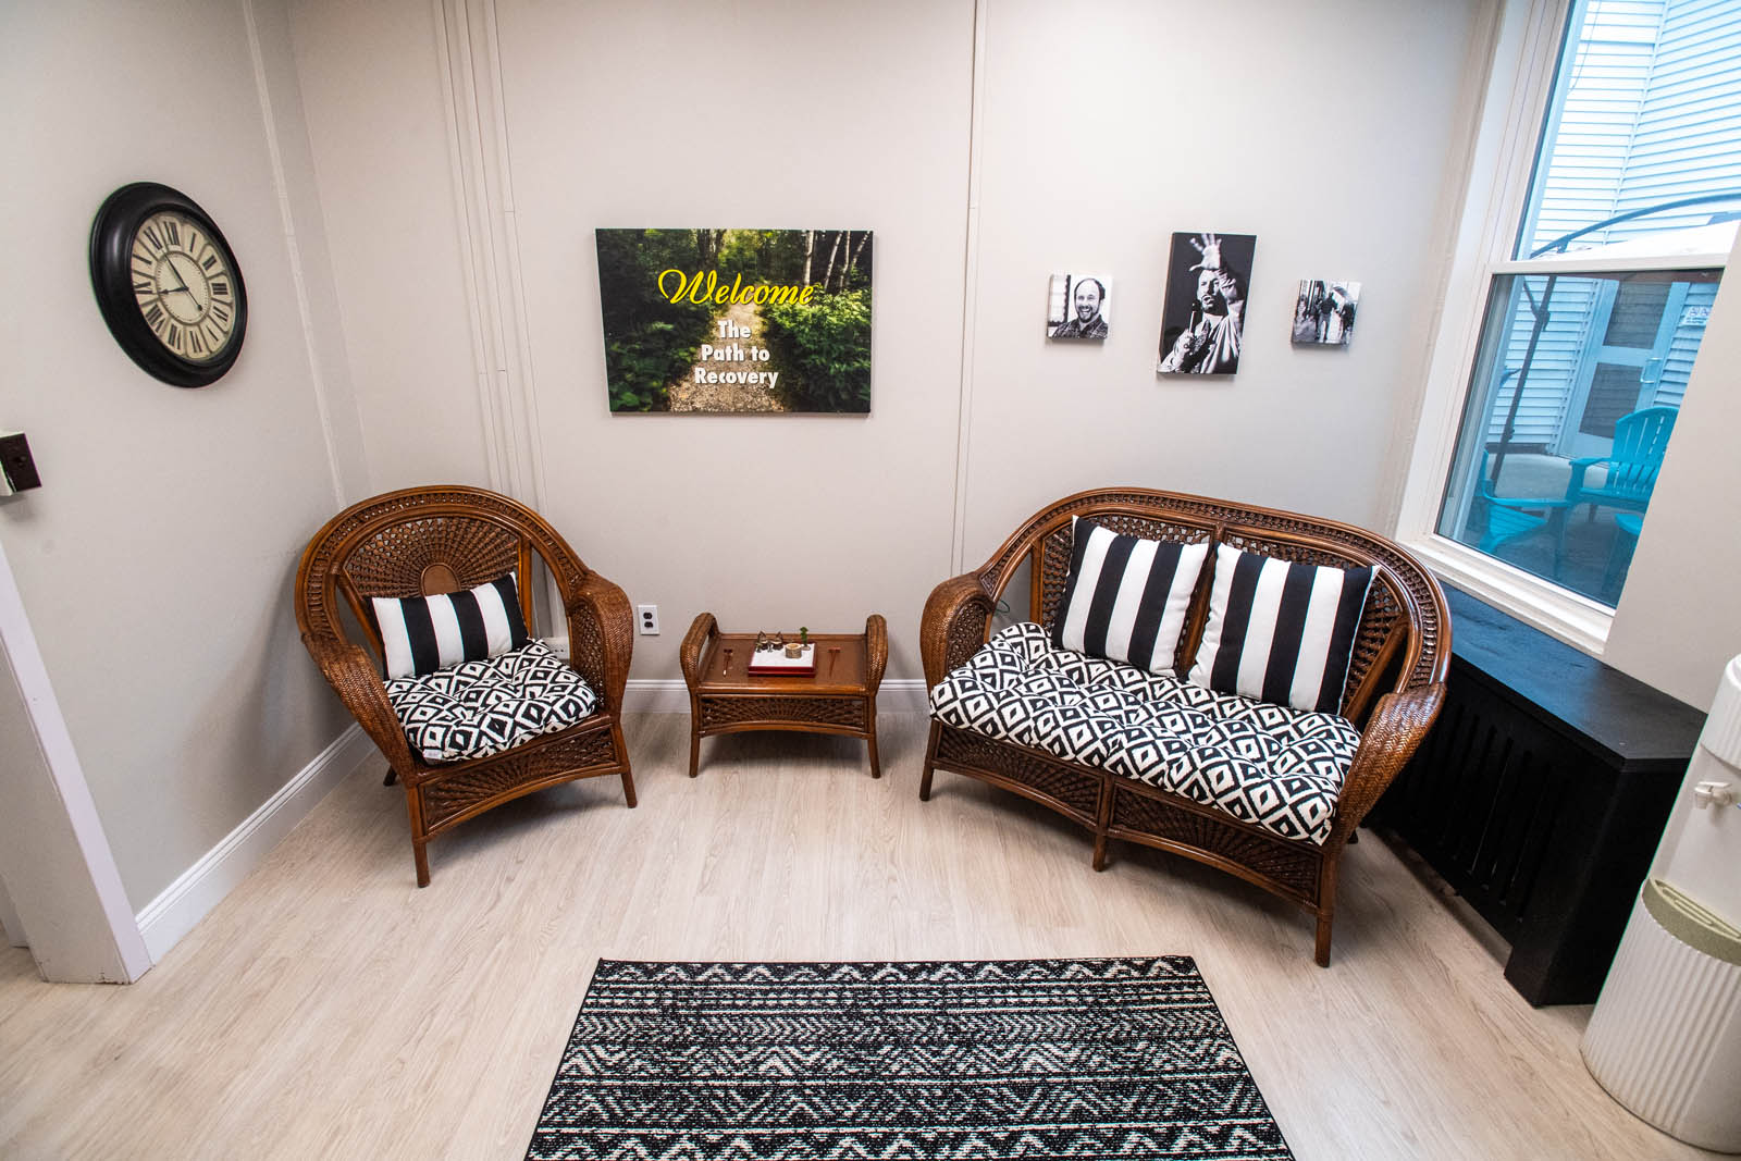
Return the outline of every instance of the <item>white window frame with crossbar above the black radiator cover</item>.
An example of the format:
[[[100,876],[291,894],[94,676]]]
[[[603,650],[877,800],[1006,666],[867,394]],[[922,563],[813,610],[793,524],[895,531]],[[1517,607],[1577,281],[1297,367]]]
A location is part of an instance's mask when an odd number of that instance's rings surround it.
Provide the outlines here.
[[[1508,273],[1722,270],[1729,254],[1628,259],[1565,256],[1513,259],[1536,153],[1553,96],[1565,24],[1576,0],[1504,0],[1471,150],[1450,277],[1428,364],[1414,453],[1398,507],[1396,540],[1438,576],[1560,641],[1602,656],[1614,609],[1438,534],[1445,480],[1457,451],[1492,282]]]

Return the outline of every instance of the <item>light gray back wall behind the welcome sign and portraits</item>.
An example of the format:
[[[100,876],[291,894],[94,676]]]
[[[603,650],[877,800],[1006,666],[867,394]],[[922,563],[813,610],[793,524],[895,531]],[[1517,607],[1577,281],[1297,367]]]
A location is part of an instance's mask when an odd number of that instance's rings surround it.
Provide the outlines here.
[[[980,30],[968,0],[493,10],[541,507],[634,602],[660,606],[665,632],[637,639],[634,677],[676,679],[702,609],[749,628],[853,628],[876,609],[890,675],[918,677],[919,609],[956,541],[978,562],[1079,487],[1382,515],[1485,5],[1210,17],[992,0]],[[486,480],[437,148],[444,33],[420,0],[298,0],[292,14],[369,463],[383,486]],[[1213,50],[1179,37],[1205,19]],[[611,416],[595,226],[876,230],[872,414]],[[1154,374],[1173,230],[1259,235],[1234,379]],[[1048,275],[1069,268],[1116,280],[1104,345],[1045,339]],[[1290,348],[1307,277],[1365,282],[1353,348]],[[750,466],[775,447],[776,468]],[[797,548],[757,559],[754,545]]]

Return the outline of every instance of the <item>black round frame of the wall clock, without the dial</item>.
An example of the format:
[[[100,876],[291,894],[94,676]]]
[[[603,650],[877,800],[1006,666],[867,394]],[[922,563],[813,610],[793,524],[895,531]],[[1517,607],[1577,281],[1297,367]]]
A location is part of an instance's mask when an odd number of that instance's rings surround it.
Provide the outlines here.
[[[174,211],[198,225],[223,254],[235,282],[235,327],[223,352],[205,362],[183,359],[165,348],[139,313],[139,301],[132,292],[134,235],[146,218],[164,211]],[[96,221],[91,223],[91,287],[96,291],[103,322],[120,348],[145,372],[164,383],[205,386],[223,378],[242,353],[242,338],[247,332],[247,287],[242,284],[242,266],[235,261],[235,251],[230,249],[218,223],[179,190],[155,181],[134,181],[108,195]]]

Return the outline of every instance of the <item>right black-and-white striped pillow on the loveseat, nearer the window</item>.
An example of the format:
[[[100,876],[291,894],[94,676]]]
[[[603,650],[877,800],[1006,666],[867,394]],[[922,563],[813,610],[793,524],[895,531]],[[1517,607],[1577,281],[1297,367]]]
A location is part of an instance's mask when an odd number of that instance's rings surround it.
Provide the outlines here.
[[[1372,567],[1290,564],[1215,548],[1208,625],[1187,681],[1299,710],[1342,705]]]

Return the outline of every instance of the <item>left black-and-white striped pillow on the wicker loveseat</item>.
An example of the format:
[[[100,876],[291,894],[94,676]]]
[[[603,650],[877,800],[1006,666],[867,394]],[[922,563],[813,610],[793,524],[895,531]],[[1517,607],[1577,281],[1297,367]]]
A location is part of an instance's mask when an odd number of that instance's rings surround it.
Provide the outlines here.
[[[1071,571],[1052,644],[1153,674],[1173,668],[1208,543],[1121,536],[1074,519]]]

